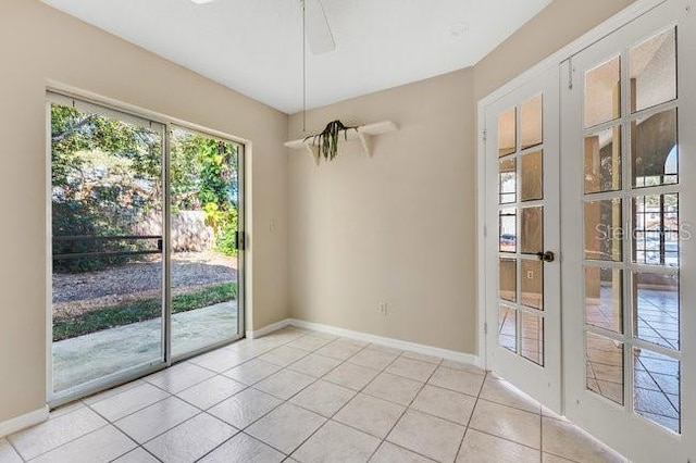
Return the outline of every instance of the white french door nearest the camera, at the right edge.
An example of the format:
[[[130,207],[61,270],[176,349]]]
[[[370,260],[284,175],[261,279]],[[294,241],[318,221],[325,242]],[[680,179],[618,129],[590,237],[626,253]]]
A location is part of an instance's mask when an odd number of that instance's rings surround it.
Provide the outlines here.
[[[566,413],[696,461],[696,18],[668,0],[561,66]]]

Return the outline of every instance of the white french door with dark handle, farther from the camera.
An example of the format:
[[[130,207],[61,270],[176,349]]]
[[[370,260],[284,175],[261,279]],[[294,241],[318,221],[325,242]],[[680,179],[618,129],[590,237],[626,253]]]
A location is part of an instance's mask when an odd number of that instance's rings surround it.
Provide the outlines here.
[[[486,109],[486,364],[560,411],[558,68]]]

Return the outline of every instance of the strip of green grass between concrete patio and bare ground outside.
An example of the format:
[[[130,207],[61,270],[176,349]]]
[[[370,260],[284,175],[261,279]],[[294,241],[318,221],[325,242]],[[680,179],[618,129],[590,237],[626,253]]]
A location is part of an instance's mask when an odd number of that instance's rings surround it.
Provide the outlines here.
[[[172,313],[187,312],[237,299],[237,284],[211,285],[172,298]],[[53,320],[53,340],[60,341],[162,315],[161,299],[108,305],[79,316]]]

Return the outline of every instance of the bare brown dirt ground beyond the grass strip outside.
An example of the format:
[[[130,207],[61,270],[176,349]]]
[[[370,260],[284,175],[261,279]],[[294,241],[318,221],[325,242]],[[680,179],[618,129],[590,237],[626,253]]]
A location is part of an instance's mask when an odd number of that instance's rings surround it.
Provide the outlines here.
[[[162,274],[160,260],[134,262],[99,272],[53,274],[53,313],[75,315],[98,306],[158,297]],[[236,279],[236,258],[213,251],[172,256],[174,295]]]

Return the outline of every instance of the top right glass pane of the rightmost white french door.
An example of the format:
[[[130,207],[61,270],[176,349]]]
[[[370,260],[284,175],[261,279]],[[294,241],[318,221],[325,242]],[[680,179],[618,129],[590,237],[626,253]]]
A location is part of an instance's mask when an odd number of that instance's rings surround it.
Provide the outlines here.
[[[632,48],[630,60],[633,112],[676,98],[676,28]]]

